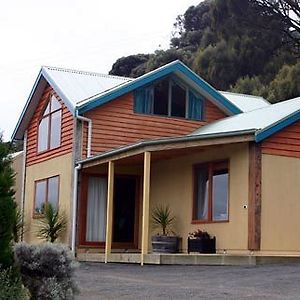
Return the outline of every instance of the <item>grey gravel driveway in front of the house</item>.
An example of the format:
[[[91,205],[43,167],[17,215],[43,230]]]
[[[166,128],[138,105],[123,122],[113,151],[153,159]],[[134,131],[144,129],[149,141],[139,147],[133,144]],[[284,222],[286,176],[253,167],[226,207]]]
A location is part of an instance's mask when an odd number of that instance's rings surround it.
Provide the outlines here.
[[[81,263],[76,299],[300,299],[300,264],[139,266]]]

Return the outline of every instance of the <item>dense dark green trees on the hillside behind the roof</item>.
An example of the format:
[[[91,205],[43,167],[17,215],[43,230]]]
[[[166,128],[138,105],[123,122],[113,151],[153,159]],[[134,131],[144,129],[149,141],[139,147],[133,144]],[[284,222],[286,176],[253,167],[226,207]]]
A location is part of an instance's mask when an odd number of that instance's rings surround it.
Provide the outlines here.
[[[177,17],[169,49],[120,58],[110,74],[137,77],[180,59],[220,90],[272,102],[298,96],[295,34],[276,9],[261,2],[205,0],[191,6]]]

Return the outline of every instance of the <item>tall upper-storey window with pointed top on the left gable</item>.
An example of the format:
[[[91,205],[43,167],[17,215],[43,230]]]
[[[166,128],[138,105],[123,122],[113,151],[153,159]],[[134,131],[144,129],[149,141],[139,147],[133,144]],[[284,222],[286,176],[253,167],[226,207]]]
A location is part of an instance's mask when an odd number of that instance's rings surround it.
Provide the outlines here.
[[[54,95],[51,95],[39,123],[38,152],[60,146],[62,107]]]

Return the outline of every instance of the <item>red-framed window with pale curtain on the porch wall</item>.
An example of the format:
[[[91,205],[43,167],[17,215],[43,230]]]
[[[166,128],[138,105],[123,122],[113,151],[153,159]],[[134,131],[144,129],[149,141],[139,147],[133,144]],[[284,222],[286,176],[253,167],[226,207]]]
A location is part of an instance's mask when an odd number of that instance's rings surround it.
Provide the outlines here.
[[[195,167],[193,221],[228,220],[228,184],[228,162],[213,162]]]

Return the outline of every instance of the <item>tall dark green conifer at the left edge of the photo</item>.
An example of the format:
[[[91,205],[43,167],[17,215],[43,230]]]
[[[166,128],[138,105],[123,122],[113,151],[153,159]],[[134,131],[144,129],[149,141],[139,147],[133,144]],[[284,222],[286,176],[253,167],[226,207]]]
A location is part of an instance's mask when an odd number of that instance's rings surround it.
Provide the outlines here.
[[[13,263],[13,220],[16,214],[14,181],[9,147],[0,135],[0,267],[3,268]]]

